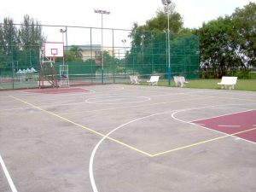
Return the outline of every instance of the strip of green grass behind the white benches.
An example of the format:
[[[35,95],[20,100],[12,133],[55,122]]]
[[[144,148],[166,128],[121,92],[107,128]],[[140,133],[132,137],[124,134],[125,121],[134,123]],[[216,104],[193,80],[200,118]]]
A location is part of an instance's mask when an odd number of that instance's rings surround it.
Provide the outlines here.
[[[196,79],[188,81],[189,84],[186,85],[187,88],[220,90],[220,85],[217,84],[220,82],[220,79]],[[160,86],[166,86],[167,84],[167,82],[159,83]],[[173,79],[171,86],[175,86]],[[256,91],[256,79],[238,79],[235,90]]]

